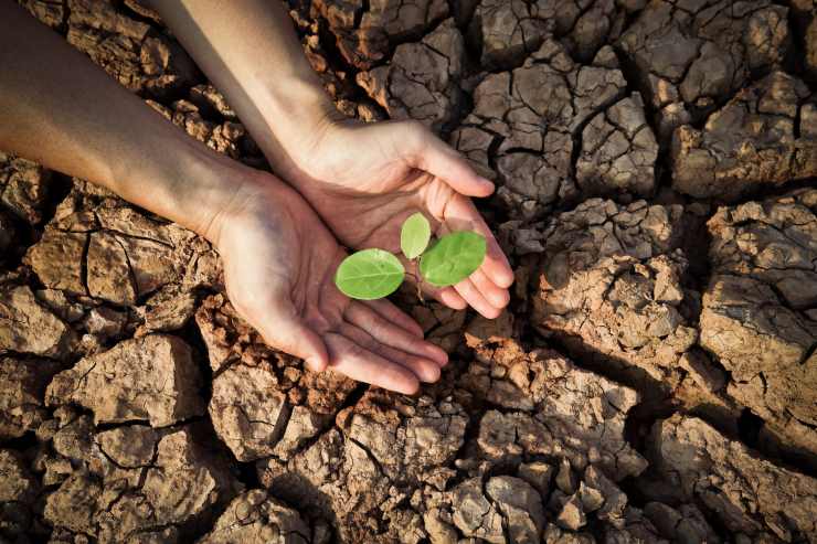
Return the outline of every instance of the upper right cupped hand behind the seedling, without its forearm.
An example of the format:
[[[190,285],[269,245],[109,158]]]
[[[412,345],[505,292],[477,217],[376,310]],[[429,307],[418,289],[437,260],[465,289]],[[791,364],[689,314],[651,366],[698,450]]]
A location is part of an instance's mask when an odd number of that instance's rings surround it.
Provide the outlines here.
[[[499,316],[513,273],[469,199],[491,194],[490,181],[418,122],[326,120],[304,134],[276,167],[343,244],[399,254],[401,225],[415,212],[437,236],[476,231],[487,239],[482,266],[456,286],[423,289],[450,308],[470,305],[487,318]]]

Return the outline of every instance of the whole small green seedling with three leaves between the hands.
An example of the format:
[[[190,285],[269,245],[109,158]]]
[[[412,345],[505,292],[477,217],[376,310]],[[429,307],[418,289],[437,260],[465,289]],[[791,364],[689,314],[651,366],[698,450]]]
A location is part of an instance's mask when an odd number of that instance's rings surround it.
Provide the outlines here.
[[[432,226],[422,213],[403,223],[400,249],[411,263],[420,262],[417,292],[425,280],[434,287],[447,287],[474,274],[485,260],[485,237],[460,231],[432,241]],[[343,259],[335,275],[335,285],[347,297],[374,300],[396,291],[405,279],[405,267],[384,249],[363,249]]]

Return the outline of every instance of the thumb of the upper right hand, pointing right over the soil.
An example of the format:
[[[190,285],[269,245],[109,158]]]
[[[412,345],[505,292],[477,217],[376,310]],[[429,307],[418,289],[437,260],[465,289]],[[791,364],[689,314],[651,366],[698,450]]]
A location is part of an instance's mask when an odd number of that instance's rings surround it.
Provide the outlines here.
[[[423,126],[415,125],[417,142],[412,166],[439,178],[465,196],[488,196],[494,183],[479,175],[456,150]]]

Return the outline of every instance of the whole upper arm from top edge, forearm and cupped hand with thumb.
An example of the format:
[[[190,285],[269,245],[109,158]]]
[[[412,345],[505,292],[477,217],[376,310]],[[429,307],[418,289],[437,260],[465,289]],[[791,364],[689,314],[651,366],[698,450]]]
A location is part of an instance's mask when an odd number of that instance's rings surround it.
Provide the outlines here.
[[[415,212],[437,235],[471,230],[488,256],[470,278],[424,288],[443,303],[470,305],[496,318],[513,274],[469,196],[487,196],[480,178],[452,148],[414,121],[373,125],[339,117],[303,54],[280,2],[155,1],[210,79],[244,120],[274,170],[301,193],[349,247],[399,253],[400,227]]]

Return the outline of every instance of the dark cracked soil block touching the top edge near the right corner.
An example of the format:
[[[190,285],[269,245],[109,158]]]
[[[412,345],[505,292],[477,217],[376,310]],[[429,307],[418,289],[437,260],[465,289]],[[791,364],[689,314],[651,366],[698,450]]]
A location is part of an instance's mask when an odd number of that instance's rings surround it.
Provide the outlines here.
[[[650,1],[619,38],[659,134],[698,122],[732,93],[784,64],[788,8],[770,0]]]

